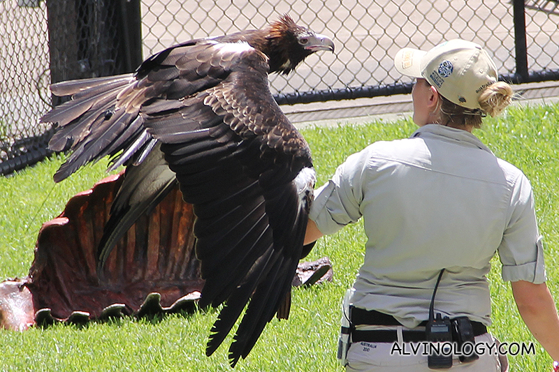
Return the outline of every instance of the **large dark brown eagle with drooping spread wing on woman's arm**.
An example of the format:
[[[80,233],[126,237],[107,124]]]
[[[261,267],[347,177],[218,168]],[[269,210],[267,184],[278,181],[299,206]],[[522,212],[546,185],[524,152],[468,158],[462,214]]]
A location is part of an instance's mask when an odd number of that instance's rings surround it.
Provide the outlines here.
[[[71,155],[61,181],[110,156],[125,179],[99,246],[99,266],[134,221],[176,183],[194,206],[201,307],[224,304],[206,355],[248,304],[229,348],[245,358],[273,316],[289,314],[291,281],[307,255],[303,237],[315,175],[310,149],[269,89],[268,73],[290,73],[333,41],[284,15],[268,27],[175,45],[135,73],[53,84],[72,100],[41,121],[49,143]]]

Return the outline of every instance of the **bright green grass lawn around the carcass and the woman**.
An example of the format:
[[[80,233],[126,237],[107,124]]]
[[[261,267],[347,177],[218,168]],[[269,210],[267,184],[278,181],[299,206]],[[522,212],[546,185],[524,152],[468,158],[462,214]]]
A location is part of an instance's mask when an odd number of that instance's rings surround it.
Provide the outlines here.
[[[546,242],[548,284],[559,296],[559,106],[511,107],[500,119],[487,119],[476,134],[497,156],[521,168],[532,181],[539,228]],[[307,128],[324,183],[349,154],[370,142],[407,137],[411,121],[373,122],[363,126]],[[52,182],[62,159],[52,158],[19,174],[0,179],[0,278],[25,276],[33,260],[38,229],[57,216],[71,195],[91,187],[106,175],[101,162],[61,184]],[[342,371],[335,360],[344,291],[354,281],[363,260],[363,226],[349,226],[319,241],[310,259],[327,255],[334,265],[331,283],[296,289],[288,321],[273,320],[237,371]],[[510,285],[500,278],[493,260],[489,276],[493,295],[491,332],[501,341],[535,342],[519,318]],[[205,357],[205,341],[214,311],[173,315],[157,321],[124,318],[92,323],[84,328],[55,326],[26,332],[0,330],[0,371],[227,371],[227,338],[215,355]],[[535,356],[509,357],[511,371],[549,369],[551,359],[536,343]]]

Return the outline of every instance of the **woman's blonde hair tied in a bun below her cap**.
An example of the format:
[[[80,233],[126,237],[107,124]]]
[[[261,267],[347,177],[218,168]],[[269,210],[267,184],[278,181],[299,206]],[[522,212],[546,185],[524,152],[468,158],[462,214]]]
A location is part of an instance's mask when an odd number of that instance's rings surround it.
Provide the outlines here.
[[[453,124],[481,127],[481,119],[490,115],[496,117],[507,107],[514,96],[514,90],[506,82],[494,82],[484,89],[479,96],[480,109],[469,109],[456,105],[443,96],[441,103],[442,122],[453,122]]]

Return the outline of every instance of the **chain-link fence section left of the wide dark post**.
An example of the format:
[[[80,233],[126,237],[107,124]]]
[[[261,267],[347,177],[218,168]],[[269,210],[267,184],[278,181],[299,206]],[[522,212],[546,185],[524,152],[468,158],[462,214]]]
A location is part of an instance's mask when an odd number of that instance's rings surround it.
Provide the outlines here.
[[[22,168],[46,155],[50,107],[46,14],[23,1],[0,1],[0,168]],[[31,5],[31,4],[29,4]],[[47,134],[45,134],[47,133]]]

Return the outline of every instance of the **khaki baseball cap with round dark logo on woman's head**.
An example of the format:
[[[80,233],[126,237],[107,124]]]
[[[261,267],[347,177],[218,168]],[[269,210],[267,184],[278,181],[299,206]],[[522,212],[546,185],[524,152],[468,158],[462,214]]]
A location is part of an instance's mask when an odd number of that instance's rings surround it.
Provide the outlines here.
[[[476,43],[453,39],[428,52],[405,47],[396,53],[394,67],[402,75],[423,77],[452,103],[481,108],[479,96],[498,80],[497,67]]]

